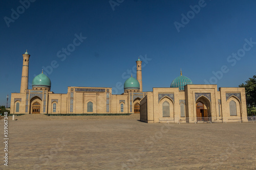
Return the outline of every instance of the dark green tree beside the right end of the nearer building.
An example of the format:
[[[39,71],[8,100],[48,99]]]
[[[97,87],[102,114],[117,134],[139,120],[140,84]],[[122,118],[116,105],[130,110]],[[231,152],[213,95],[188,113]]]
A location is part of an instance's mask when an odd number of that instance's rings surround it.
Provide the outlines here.
[[[247,115],[256,115],[256,75],[239,85],[245,88]]]

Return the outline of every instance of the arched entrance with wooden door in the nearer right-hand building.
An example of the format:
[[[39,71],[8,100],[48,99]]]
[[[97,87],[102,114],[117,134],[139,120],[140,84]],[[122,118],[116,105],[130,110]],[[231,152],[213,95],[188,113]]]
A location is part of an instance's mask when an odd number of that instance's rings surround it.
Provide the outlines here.
[[[197,122],[211,122],[210,103],[203,97],[197,102]]]

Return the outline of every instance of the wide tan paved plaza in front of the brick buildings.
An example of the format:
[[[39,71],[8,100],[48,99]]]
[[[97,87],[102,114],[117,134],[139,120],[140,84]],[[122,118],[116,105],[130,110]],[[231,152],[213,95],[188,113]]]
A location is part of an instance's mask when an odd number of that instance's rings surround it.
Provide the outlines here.
[[[256,169],[256,123],[28,116],[9,117],[9,162],[2,148],[0,169]]]

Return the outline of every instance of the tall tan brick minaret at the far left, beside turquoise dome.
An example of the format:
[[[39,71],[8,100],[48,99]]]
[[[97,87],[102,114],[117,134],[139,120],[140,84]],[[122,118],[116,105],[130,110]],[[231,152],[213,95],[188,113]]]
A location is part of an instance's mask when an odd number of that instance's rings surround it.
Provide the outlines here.
[[[22,65],[22,82],[20,83],[20,93],[25,93],[28,89],[29,83],[29,57],[28,51],[23,54],[23,65]]]

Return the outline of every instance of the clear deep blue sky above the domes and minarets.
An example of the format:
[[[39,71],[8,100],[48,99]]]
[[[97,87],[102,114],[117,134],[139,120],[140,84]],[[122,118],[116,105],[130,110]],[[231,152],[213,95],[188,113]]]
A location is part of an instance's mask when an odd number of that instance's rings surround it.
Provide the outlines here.
[[[0,105],[6,105],[7,94],[20,90],[26,49],[31,55],[29,83],[43,66],[57,62],[48,74],[55,93],[67,93],[68,86],[114,88],[124,83],[128,75],[124,73],[139,56],[151,59],[142,68],[143,91],[169,87],[180,68],[194,84],[211,79],[217,80],[218,87],[238,87],[256,72],[256,44],[247,44],[247,51],[243,50],[245,39],[256,42],[253,0],[124,0],[116,6],[109,0],[37,0],[25,3],[27,8],[21,6],[19,1],[0,2]],[[182,14],[189,15],[189,22]],[[182,21],[178,32],[174,23]],[[81,43],[75,40],[73,49],[75,34],[87,38]],[[69,55],[62,52],[67,47],[72,51],[67,51]],[[228,58],[238,52],[243,56],[239,60]],[[220,71],[223,65],[228,72],[212,78],[212,71]],[[115,93],[122,92],[119,88]]]

